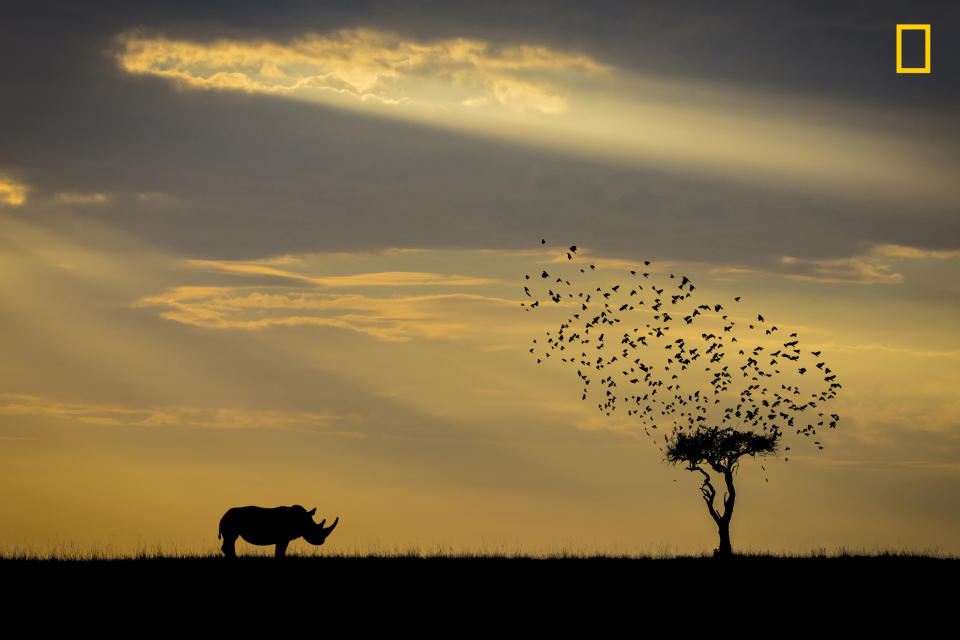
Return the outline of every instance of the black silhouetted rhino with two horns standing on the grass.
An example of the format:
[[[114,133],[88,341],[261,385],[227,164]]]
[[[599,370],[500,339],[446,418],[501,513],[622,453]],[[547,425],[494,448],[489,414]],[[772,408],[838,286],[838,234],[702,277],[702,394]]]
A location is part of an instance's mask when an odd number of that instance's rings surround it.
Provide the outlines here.
[[[313,521],[313,514],[316,512],[315,508],[307,511],[300,505],[273,509],[234,507],[220,518],[220,534],[217,538],[223,538],[221,550],[228,558],[237,557],[233,546],[237,536],[250,544],[275,544],[276,556],[282,558],[291,540],[302,537],[310,544],[321,545],[340,522],[340,517],[337,516],[332,525],[324,528],[326,519],[320,524]]]

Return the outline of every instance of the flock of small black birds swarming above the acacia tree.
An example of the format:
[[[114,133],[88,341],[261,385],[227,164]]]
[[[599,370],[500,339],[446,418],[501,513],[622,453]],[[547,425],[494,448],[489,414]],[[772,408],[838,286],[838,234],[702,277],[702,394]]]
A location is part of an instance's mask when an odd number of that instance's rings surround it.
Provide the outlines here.
[[[521,303],[526,311],[550,303],[570,310],[557,330],[547,331],[540,342],[533,339],[530,353],[538,364],[552,357],[576,369],[582,399],[596,389],[597,407],[606,415],[622,404],[648,436],[656,430],[664,442],[683,430],[705,427],[778,438],[795,430],[815,438],[825,425],[837,426],[837,414],[818,411],[841,388],[821,351],[801,349],[797,333],[782,339],[784,332],[760,314],[756,321],[737,314],[740,296],[733,298],[730,311],[722,304],[696,304],[689,278],[671,273],[672,282],[659,286],[650,279],[650,261],[626,270],[622,282],[578,285],[577,280],[593,279],[598,267],[581,260],[576,246],[566,250],[566,257],[566,269],[554,262],[524,276],[524,296],[532,300]],[[561,275],[567,271],[574,275]],[[626,329],[634,324],[624,322],[630,318],[639,326]],[[694,330],[705,322],[714,327]],[[748,345],[744,326],[763,338]],[[812,393],[808,383],[815,387]],[[823,449],[820,440],[813,443]]]

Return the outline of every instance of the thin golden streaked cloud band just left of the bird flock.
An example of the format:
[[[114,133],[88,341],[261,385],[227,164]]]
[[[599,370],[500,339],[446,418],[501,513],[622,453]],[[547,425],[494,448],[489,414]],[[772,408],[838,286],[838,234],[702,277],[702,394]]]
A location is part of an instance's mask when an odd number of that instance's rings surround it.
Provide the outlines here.
[[[503,323],[503,316],[510,315],[520,300],[509,297],[507,292],[516,292],[516,285],[502,276],[515,277],[510,264],[528,255],[387,249],[248,261],[187,260],[191,269],[214,272],[215,280],[169,287],[139,297],[133,306],[159,307],[163,318],[208,329],[333,327],[392,342],[417,338],[483,342],[498,335],[497,343],[503,344],[504,334],[517,331],[514,323]],[[381,271],[384,265],[398,270]],[[492,272],[491,265],[497,267]],[[495,277],[419,270],[422,267],[483,270]],[[331,271],[339,275],[320,275]],[[224,283],[221,274],[240,276],[241,283],[234,284],[234,278]],[[470,290],[475,288],[482,291]]]

